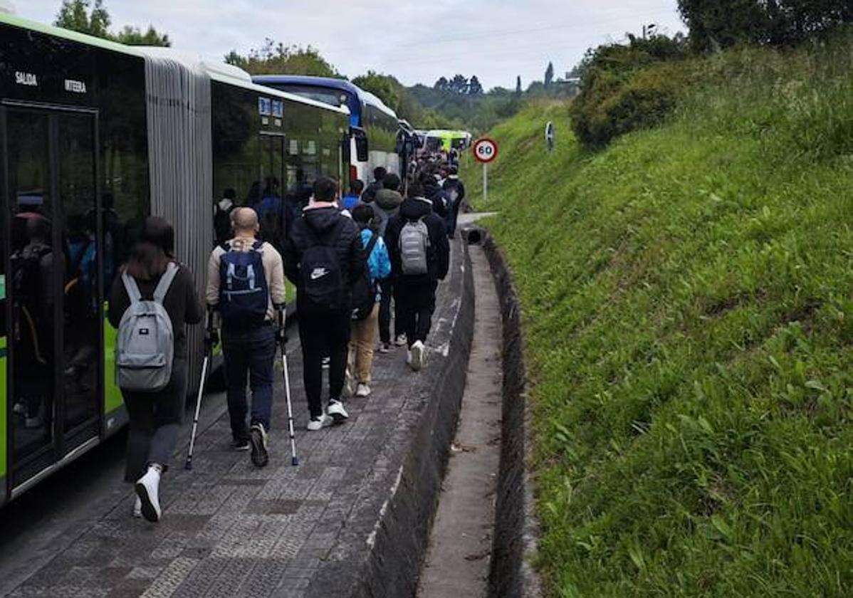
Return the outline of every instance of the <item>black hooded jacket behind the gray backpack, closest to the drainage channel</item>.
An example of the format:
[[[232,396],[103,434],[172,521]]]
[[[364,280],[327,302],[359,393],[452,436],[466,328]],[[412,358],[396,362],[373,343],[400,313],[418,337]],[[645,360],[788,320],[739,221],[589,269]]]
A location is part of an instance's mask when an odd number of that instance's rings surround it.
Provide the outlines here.
[[[424,217],[429,231],[429,252],[427,253],[427,264],[429,272],[420,276],[404,276],[400,264],[400,231],[409,220],[417,220]],[[385,244],[391,256],[392,278],[404,278],[438,281],[444,280],[447,270],[450,269],[450,244],[447,241],[447,229],[444,227],[444,219],[432,211],[432,203],[424,198],[406,199],[400,206],[400,212],[388,221],[385,230]]]

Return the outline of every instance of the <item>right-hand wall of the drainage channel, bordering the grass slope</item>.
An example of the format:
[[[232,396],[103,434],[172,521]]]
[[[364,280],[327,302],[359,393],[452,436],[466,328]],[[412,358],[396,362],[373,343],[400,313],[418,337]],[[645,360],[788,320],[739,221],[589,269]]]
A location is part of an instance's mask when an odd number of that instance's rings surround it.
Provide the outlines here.
[[[479,239],[471,239],[471,233]],[[534,514],[530,405],[521,310],[512,275],[499,247],[484,229],[470,229],[489,258],[503,320],[503,406],[501,466],[495,505],[495,531],[489,572],[489,595],[500,598],[542,595],[539,576],[531,564],[537,551],[538,523]]]

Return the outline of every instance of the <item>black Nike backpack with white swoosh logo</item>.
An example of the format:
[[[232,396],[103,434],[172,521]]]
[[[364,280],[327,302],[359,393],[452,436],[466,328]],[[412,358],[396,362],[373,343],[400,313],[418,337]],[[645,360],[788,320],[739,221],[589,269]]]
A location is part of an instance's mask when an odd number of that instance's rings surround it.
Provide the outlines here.
[[[341,222],[328,233],[327,240],[320,238],[310,225],[305,224],[311,241],[299,261],[299,311],[322,313],[349,308],[344,272],[338,252],[331,245],[345,224],[344,217],[341,218]]]

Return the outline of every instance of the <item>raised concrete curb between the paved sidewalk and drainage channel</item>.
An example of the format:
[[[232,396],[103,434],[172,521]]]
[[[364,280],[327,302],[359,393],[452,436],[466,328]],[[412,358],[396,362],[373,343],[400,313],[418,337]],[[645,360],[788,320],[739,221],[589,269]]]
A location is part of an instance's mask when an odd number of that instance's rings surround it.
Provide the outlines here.
[[[389,415],[390,438],[355,496],[338,549],[305,589],[310,598],[415,595],[432,519],[456,433],[473,340],[473,276],[467,248],[454,242],[443,283],[450,305],[433,317],[427,367],[403,409]],[[452,350],[450,350],[452,347]],[[364,479],[360,476],[359,479]],[[360,558],[345,558],[361,554]],[[341,558],[339,558],[339,556]],[[281,594],[287,595],[286,593]]]

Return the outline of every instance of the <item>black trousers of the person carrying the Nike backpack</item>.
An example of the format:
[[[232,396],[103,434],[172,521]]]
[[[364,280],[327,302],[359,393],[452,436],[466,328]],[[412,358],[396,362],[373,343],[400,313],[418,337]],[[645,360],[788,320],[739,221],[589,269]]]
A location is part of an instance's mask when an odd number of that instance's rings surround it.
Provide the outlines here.
[[[328,397],[339,400],[344,390],[350,343],[350,311],[299,312],[302,376],[311,417],[322,415],[322,358],[328,356]]]

